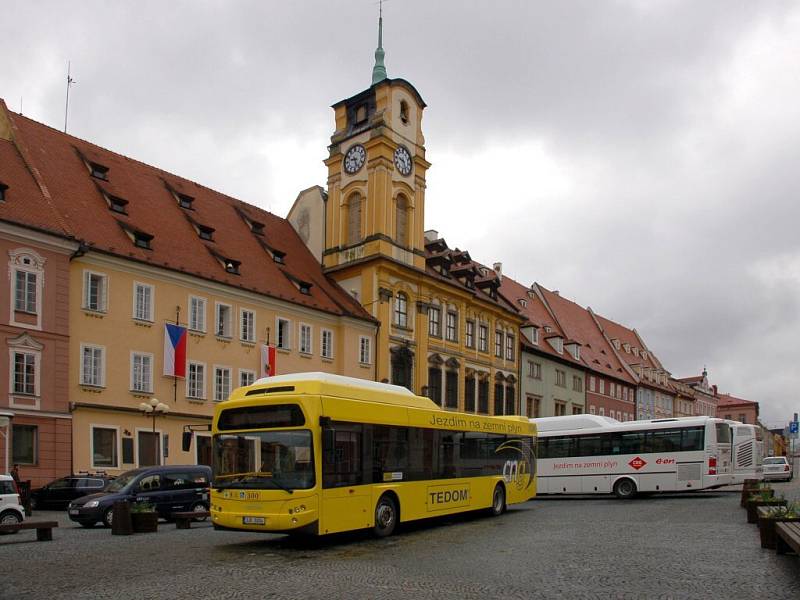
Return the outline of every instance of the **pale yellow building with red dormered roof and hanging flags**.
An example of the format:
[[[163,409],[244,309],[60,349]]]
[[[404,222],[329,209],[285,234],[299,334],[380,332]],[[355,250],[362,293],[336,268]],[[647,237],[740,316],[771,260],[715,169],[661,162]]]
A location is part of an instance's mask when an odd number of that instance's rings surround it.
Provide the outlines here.
[[[262,352],[274,356],[273,374],[375,378],[377,322],[288,221],[9,118],[36,201],[74,245],[52,282],[68,304],[58,314],[68,315],[69,351],[48,374],[66,380],[73,471],[209,463],[209,437],[184,453],[181,432],[210,423],[216,401],[260,377]],[[175,323],[185,360],[167,343]],[[146,413],[151,402],[168,412]]]

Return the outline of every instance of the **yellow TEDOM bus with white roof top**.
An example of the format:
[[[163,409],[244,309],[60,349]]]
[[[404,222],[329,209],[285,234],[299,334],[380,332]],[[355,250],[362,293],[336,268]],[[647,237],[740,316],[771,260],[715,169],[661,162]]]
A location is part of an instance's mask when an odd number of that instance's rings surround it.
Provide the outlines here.
[[[536,494],[536,426],[445,411],[405,388],[301,373],[216,406],[217,529],[324,535],[487,509]]]

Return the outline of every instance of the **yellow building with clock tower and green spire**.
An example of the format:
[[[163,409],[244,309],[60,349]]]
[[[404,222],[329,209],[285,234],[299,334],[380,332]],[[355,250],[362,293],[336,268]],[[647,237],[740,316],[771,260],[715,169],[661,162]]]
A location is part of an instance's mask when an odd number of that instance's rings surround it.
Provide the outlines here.
[[[519,414],[519,327],[490,269],[425,231],[425,102],[389,79],[379,41],[373,84],[333,105],[327,194],[289,214],[326,272],[378,319],[378,380],[446,408]]]

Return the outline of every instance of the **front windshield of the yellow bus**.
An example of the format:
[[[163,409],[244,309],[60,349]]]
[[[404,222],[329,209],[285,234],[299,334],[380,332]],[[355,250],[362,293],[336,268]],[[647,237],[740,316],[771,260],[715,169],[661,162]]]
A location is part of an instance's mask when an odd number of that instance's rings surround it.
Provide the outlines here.
[[[289,493],[314,487],[311,432],[215,435],[214,487],[281,489]]]

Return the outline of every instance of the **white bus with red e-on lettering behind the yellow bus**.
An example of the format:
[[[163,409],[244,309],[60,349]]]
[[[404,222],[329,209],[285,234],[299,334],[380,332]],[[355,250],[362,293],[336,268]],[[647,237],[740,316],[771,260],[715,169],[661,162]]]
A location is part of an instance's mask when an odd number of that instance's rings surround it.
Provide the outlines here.
[[[626,421],[594,415],[531,419],[539,429],[538,494],[676,492],[731,483],[723,419]]]

